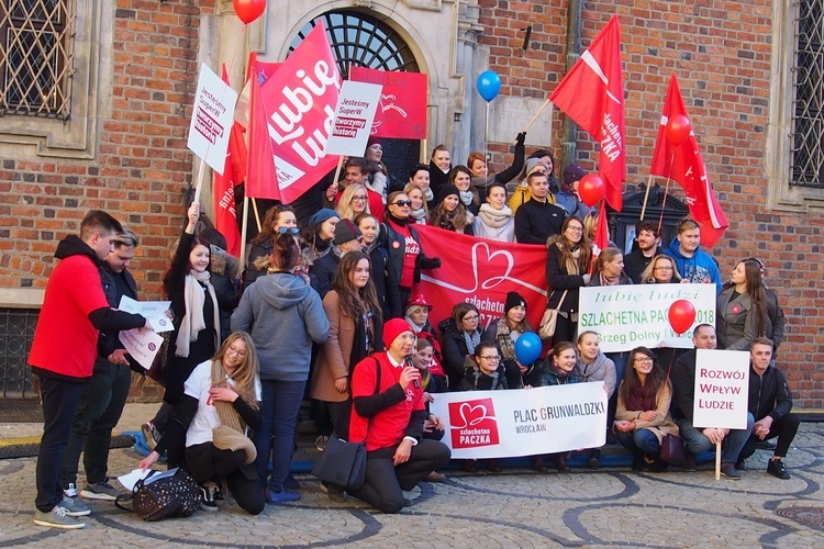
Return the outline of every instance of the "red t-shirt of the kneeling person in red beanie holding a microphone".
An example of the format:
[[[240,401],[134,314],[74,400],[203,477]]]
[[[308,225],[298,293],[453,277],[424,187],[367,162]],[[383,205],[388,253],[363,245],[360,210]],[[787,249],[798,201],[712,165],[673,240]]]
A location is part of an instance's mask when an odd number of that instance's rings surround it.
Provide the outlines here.
[[[378,381],[375,359],[378,359],[381,368],[380,390],[378,392],[382,393],[398,385],[403,370],[402,366],[394,366],[386,352],[376,352],[355,367],[355,373],[352,377],[353,400],[358,396],[372,396],[375,394],[375,385]],[[359,416],[353,404],[349,440],[357,442],[366,438],[367,451],[399,445],[407,435],[412,412],[426,410],[423,402],[423,389],[416,389],[413,383],[410,383],[405,394],[407,397],[403,401],[372,416],[371,426],[369,426],[369,418]],[[369,428],[368,438],[366,436],[367,427]]]

